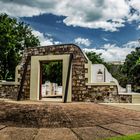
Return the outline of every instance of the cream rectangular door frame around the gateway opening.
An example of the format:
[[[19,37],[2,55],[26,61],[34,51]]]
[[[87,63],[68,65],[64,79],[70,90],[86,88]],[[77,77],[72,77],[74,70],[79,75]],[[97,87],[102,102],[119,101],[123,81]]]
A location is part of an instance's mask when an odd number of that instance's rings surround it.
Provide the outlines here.
[[[42,64],[49,62],[62,63],[62,94],[59,96],[47,96],[42,98]],[[65,55],[44,55],[31,57],[31,76],[30,76],[30,100],[45,100],[52,102],[71,102],[72,99],[72,57]],[[53,69],[52,69],[53,70]],[[52,73],[51,70],[51,73]],[[52,73],[54,74],[54,73]],[[56,75],[58,77],[58,75]]]

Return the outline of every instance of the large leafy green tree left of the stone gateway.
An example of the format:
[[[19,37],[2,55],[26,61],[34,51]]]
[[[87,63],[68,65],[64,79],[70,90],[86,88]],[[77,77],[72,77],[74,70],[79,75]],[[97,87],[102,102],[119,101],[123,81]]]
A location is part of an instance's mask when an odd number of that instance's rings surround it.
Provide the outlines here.
[[[38,45],[29,25],[0,14],[0,79],[13,80],[23,49]]]

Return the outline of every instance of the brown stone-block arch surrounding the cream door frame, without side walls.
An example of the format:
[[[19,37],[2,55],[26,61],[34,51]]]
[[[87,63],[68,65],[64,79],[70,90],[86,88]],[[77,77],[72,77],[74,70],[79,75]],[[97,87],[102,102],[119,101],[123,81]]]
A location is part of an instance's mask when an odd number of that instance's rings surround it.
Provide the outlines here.
[[[28,48],[23,54],[21,61],[21,69],[19,70],[19,75],[22,77],[24,64],[26,62],[27,56],[42,56],[42,55],[63,55],[63,54],[73,54],[72,60],[72,101],[83,101],[87,94],[87,89],[85,85],[85,63],[88,62],[85,55],[81,49],[73,44],[67,45],[54,45],[46,47],[35,47]],[[22,98],[29,99],[30,95],[30,71],[31,62],[28,64],[27,74],[25,75],[25,82],[22,90]],[[21,81],[21,78],[18,79]]]

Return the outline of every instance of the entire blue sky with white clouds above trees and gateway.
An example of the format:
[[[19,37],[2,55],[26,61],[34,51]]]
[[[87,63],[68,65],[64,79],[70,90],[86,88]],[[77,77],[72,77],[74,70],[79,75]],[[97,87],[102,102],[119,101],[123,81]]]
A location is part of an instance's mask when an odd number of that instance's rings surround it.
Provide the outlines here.
[[[0,0],[0,13],[30,24],[41,45],[75,43],[106,61],[140,46],[140,0]]]

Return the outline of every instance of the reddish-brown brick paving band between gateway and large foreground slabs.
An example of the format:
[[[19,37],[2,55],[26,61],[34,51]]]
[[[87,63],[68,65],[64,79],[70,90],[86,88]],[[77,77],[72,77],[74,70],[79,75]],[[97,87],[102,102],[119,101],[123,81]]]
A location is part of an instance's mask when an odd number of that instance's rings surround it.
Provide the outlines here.
[[[36,128],[76,128],[140,118],[140,112],[94,103],[13,104],[0,102],[0,124]]]

